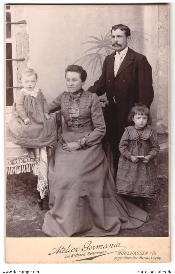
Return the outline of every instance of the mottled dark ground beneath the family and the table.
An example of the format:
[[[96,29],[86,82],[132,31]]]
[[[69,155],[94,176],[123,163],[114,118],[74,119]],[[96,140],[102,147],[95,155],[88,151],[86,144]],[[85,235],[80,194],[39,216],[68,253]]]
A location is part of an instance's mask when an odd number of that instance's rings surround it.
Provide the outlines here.
[[[161,140],[160,140],[161,141]],[[158,181],[161,193],[147,199],[147,223],[138,229],[123,229],[116,237],[166,237],[168,236],[168,145],[163,140],[157,159]],[[32,172],[7,175],[6,182],[6,236],[48,237],[41,231],[45,213],[49,210],[48,196],[39,210],[37,201],[37,176]]]

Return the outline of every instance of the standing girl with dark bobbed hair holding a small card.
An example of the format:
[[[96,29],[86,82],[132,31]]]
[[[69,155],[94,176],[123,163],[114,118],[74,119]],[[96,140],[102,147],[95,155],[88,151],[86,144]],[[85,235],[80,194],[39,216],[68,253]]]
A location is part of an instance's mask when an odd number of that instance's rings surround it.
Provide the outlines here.
[[[126,127],[121,138],[115,179],[117,193],[134,196],[126,199],[143,208],[146,197],[153,198],[160,192],[154,161],[160,147],[156,133],[147,127],[151,121],[149,109],[143,103],[135,104],[130,110],[128,122],[134,125]]]

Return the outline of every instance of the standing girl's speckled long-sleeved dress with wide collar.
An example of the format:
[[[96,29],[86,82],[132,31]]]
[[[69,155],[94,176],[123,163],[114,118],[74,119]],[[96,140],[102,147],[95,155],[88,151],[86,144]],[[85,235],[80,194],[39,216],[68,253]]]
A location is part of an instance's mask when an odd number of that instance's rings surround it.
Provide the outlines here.
[[[117,193],[153,198],[160,192],[154,161],[159,149],[156,134],[152,129],[145,127],[143,130],[137,130],[135,126],[125,128],[119,144],[121,156],[115,179]],[[152,159],[148,164],[141,160],[133,163],[129,159],[130,155],[151,155]]]

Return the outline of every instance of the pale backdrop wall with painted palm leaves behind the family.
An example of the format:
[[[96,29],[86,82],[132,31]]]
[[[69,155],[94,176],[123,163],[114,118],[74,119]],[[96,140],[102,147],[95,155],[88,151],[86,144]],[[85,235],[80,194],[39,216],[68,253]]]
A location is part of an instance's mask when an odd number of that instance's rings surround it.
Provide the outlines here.
[[[87,70],[86,90],[99,78],[105,56],[113,52],[111,27],[127,25],[131,30],[128,46],[145,55],[152,66],[153,121],[160,132],[168,132],[168,6],[161,8],[159,5],[11,6],[16,22],[27,21],[25,26],[15,26],[16,54],[26,55],[25,62],[18,64],[18,74],[24,67],[36,70],[37,87],[50,103],[67,91],[64,75],[67,65],[79,64]]]

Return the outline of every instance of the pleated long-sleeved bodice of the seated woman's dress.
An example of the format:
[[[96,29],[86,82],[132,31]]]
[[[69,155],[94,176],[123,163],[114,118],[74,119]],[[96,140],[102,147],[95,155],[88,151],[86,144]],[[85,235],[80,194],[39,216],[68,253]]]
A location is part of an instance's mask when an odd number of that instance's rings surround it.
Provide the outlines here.
[[[78,100],[73,100],[70,92],[61,93],[51,102],[49,109],[52,112],[52,109],[61,107],[61,113],[67,127],[72,127],[74,133],[80,132],[80,130],[84,132],[83,137],[85,137],[86,145],[91,146],[101,141],[106,133],[106,126],[97,95],[85,90],[82,91]],[[75,110],[76,108],[77,110]],[[88,131],[91,132],[86,134]],[[67,136],[69,133],[64,135],[64,138]],[[82,139],[80,142],[83,145]],[[64,141],[66,142],[66,139]]]

